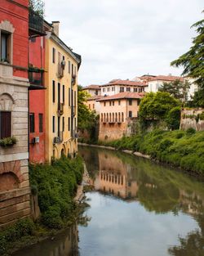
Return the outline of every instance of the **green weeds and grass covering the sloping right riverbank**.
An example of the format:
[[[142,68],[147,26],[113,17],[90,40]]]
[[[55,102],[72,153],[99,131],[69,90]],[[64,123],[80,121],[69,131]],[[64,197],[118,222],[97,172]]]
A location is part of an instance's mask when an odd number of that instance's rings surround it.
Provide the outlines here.
[[[204,175],[204,132],[154,130],[133,137],[106,142],[118,150],[140,151],[167,164]]]

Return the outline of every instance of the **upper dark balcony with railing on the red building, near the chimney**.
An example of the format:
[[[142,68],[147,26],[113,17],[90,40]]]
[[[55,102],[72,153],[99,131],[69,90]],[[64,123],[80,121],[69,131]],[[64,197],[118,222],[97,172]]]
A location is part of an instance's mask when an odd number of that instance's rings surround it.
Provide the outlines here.
[[[43,17],[37,11],[29,10],[29,36],[45,35]]]

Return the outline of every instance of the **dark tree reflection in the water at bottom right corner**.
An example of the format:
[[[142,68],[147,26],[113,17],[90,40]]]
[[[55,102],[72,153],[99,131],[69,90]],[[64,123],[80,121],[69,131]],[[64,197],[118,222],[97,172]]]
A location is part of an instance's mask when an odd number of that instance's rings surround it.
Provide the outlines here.
[[[199,215],[196,220],[201,231],[196,230],[188,233],[185,238],[179,237],[180,245],[168,249],[173,256],[203,256],[204,255],[204,216]]]

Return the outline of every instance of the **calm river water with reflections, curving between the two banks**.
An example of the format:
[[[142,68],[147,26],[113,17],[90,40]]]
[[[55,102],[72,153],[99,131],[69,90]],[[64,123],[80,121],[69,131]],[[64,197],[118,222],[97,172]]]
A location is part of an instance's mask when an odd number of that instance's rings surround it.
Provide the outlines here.
[[[86,225],[14,256],[203,256],[204,183],[111,150],[79,147],[95,187]]]

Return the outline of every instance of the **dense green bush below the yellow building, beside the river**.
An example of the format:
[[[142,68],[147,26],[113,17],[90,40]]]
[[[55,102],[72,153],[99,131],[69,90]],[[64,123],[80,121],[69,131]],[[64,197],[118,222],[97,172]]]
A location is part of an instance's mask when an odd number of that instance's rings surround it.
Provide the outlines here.
[[[30,165],[30,184],[38,193],[42,224],[49,228],[62,227],[73,213],[72,197],[82,182],[82,159],[55,159],[52,165]]]

